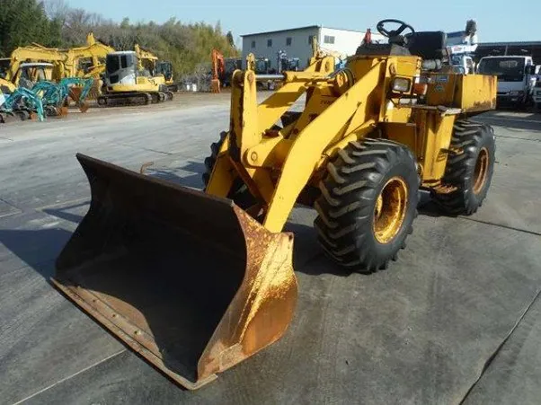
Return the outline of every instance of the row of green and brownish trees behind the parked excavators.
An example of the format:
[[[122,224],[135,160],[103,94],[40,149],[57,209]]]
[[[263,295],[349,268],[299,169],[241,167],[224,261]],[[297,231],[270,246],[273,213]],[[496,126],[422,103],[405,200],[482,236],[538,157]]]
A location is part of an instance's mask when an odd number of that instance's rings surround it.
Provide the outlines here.
[[[117,50],[133,49],[138,43],[171,61],[176,77],[209,66],[213,48],[225,57],[240,54],[233,33],[224,34],[220,22],[186,24],[172,17],[163,24],[134,24],[126,17],[119,23],[81,8],[69,8],[65,0],[43,1],[47,13],[37,0],[0,0],[0,55],[32,42],[46,47],[81,47],[90,31]]]

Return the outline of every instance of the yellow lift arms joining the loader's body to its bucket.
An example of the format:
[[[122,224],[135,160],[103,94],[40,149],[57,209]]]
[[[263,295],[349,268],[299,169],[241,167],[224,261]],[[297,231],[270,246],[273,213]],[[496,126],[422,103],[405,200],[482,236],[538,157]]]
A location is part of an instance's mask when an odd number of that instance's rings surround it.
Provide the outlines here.
[[[259,106],[254,72],[251,70],[244,73],[235,72],[232,106],[242,105],[243,109],[242,114],[232,113],[231,116],[229,137],[234,145],[230,143],[229,148],[234,148],[235,152],[230,154],[226,149],[220,151],[217,172],[223,173],[226,167],[235,168],[253,194],[264,199],[266,216],[262,224],[270,232],[281,232],[299,194],[313,175],[317,163],[321,162],[326,150],[333,148],[333,140],[341,140],[346,124],[359,109],[362,101],[367,100],[368,95],[376,91],[378,77],[385,72],[386,67],[385,62],[372,66],[350,90],[344,92],[332,105],[317,115],[297,136],[290,136],[295,128],[290,128],[290,133],[265,136],[265,129],[279,120],[310,85],[319,83],[322,86],[333,87],[334,79],[328,78],[331,73],[330,66],[333,66],[331,59],[332,57],[324,57],[305,72],[287,72],[283,79],[284,86]],[[232,108],[232,111],[235,110]],[[366,125],[368,111],[360,111],[356,119],[368,128],[369,125]],[[322,136],[320,128],[334,129]],[[235,157],[231,157],[232,155]],[[272,169],[276,168],[281,168],[281,172],[279,180],[274,184],[270,174],[275,174]],[[233,180],[230,178],[225,183],[222,177],[215,181],[211,176],[207,192],[226,197]]]

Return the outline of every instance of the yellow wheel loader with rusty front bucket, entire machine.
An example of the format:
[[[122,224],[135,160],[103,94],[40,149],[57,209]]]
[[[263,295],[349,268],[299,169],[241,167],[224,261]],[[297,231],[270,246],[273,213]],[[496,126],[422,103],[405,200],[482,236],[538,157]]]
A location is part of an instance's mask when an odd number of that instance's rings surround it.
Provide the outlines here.
[[[433,70],[445,34],[404,22],[334,71],[314,57],[258,105],[252,69],[232,77],[228,130],[204,191],[78,154],[89,212],[54,283],[147,361],[189,389],[279,339],[297,281],[294,205],[315,207],[323,250],[344,271],[385,269],[412,233],[419,189],[470,215],[489,189],[496,78]],[[410,30],[404,34],[405,30]],[[292,108],[305,96],[304,109]]]

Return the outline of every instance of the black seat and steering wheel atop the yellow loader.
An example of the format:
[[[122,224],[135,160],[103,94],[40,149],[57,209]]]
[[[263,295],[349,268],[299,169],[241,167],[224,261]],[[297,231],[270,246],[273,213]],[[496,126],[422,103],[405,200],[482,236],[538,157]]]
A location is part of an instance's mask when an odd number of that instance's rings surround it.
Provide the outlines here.
[[[399,24],[399,27],[388,30],[388,23]],[[442,60],[447,55],[447,34],[443,31],[417,32],[410,24],[394,19],[377,22],[377,31],[388,39],[388,43],[362,44],[357,48],[356,55],[417,56],[423,59],[422,66],[426,70],[441,68]]]

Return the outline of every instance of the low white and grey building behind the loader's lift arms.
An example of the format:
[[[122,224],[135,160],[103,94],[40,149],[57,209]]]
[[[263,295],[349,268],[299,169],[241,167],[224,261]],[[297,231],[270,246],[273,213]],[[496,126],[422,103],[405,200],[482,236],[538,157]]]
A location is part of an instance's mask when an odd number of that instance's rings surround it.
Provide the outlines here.
[[[344,58],[354,55],[365,36],[364,31],[337,30],[320,25],[293,28],[290,30],[258,32],[242,35],[243,61],[249,53],[255,57],[267,57],[270,67],[276,68],[278,52],[285,51],[288,57],[298,57],[300,67],[304,69],[312,56],[312,37],[323,50],[338,52]],[[386,41],[383,35],[372,30],[372,40]]]

